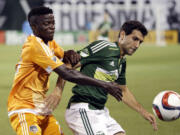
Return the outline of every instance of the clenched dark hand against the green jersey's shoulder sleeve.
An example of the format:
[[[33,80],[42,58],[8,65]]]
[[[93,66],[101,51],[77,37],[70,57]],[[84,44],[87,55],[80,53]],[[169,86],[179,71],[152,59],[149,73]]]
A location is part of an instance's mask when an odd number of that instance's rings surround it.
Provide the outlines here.
[[[64,52],[64,63],[70,63],[72,66],[76,65],[81,59],[81,56],[74,50],[68,50]]]

